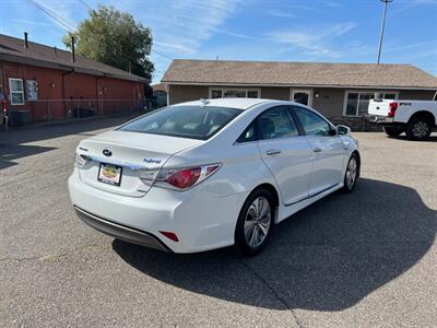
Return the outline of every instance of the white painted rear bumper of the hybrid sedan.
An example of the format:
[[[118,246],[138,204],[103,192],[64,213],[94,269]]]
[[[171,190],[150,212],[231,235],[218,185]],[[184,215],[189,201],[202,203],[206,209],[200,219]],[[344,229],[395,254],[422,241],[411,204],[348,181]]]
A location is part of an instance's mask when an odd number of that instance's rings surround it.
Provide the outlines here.
[[[72,204],[93,215],[81,219],[96,230],[144,246],[149,246],[147,236],[153,236],[174,253],[233,245],[236,220],[247,197],[246,194],[213,197],[194,188],[177,192],[157,187],[144,197],[127,197],[83,183],[76,169],[69,178],[69,191]],[[175,233],[178,241],[162,232]]]

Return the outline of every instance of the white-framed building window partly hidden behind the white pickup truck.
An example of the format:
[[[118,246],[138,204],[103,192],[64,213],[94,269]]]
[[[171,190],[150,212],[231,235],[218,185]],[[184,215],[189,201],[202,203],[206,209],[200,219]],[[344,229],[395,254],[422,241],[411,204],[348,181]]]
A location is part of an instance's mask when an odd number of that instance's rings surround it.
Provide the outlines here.
[[[346,91],[343,115],[364,116],[367,114],[370,99],[397,99],[399,93],[393,91]]]

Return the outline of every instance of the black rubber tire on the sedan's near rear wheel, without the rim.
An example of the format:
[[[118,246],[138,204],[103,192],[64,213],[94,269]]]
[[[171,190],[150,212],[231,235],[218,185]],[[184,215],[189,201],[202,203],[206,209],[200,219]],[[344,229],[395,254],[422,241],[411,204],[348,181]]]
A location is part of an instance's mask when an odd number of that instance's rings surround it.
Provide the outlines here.
[[[263,223],[261,222],[261,219],[255,219],[252,221],[252,226],[253,226],[253,235],[250,235],[250,220],[247,220],[247,218],[249,219],[250,215],[252,215],[252,211],[253,211],[253,202],[258,199],[265,199],[268,201],[268,204],[270,207],[270,218],[269,218],[269,229],[267,230],[267,234],[263,235],[262,234],[262,229],[259,225],[262,225]],[[238,215],[238,221],[237,221],[237,225],[235,227],[235,246],[237,248],[237,250],[245,255],[245,256],[253,256],[259,254],[268,244],[271,234],[272,234],[272,230],[273,230],[273,225],[274,225],[274,214],[275,214],[275,207],[274,207],[274,201],[273,201],[273,196],[271,195],[271,192],[264,188],[259,188],[256,189],[252,194],[249,195],[249,197],[246,199],[245,203],[243,204],[241,211]],[[265,219],[265,218],[264,218]],[[262,220],[262,222],[267,222],[267,220]],[[256,221],[259,221],[258,223],[256,223]],[[246,230],[248,231],[248,236],[245,233],[245,224],[246,224]],[[257,227],[258,225],[258,227]],[[265,226],[262,225],[264,229]],[[259,232],[259,236],[261,237],[261,234],[264,236],[262,242],[260,242],[259,245],[252,246],[250,245],[250,241],[252,241],[250,237],[255,237],[256,234],[256,229],[258,229]],[[258,237],[258,235],[257,235]],[[249,241],[248,241],[249,239]]]

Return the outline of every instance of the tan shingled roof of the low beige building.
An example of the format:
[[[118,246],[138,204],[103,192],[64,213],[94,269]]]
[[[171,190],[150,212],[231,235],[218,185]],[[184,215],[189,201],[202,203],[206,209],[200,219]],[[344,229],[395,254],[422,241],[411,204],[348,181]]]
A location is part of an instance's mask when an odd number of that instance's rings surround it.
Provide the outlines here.
[[[437,89],[437,78],[411,65],[182,60],[164,83]]]

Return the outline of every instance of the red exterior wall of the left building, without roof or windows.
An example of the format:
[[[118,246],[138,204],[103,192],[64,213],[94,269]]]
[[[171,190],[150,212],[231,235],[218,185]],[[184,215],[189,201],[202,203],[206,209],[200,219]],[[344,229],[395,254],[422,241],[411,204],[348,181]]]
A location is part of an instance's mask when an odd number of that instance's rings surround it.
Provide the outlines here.
[[[74,107],[95,109],[97,114],[113,113],[117,104],[104,99],[138,99],[144,96],[144,83],[94,77],[49,68],[2,62],[3,93],[9,98],[9,79],[35,80],[38,83],[38,101],[25,101],[24,105],[10,105],[8,110],[29,110],[33,121],[60,119],[72,115]],[[62,102],[66,99],[67,102]],[[72,99],[78,103],[71,102]],[[82,99],[94,99],[85,102]],[[69,102],[70,101],[70,102]]]

